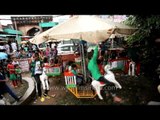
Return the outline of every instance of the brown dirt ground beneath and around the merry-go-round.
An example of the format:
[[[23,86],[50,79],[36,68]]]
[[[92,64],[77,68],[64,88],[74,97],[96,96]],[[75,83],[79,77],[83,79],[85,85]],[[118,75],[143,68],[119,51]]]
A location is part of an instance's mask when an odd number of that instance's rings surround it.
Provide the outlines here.
[[[106,97],[105,94],[103,94],[104,100],[99,100],[97,96],[90,99],[78,99],[66,89],[64,78],[62,77],[61,79],[50,78],[49,80],[51,86],[49,95],[53,96],[55,94],[55,97],[45,99],[44,102],[39,99],[33,99],[30,105],[146,105],[154,98],[159,99],[160,95],[153,88],[152,80],[144,76],[116,75],[116,79],[122,85],[122,89],[117,90],[117,95],[123,99],[123,103],[114,103],[112,97]]]

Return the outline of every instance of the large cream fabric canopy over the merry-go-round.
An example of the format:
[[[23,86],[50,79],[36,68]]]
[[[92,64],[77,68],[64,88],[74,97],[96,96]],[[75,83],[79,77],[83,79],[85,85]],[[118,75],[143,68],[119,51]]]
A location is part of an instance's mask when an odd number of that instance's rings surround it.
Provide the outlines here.
[[[30,42],[38,44],[47,39],[83,39],[97,43],[112,34],[114,28],[102,19],[94,16],[74,16],[37,36]]]

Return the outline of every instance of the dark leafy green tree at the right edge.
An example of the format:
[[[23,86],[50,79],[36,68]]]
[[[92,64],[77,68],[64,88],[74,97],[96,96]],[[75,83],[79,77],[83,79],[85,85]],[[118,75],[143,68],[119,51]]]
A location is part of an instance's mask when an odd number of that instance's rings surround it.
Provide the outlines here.
[[[153,77],[160,64],[160,15],[130,15],[125,24],[138,30],[127,38],[129,45],[140,45],[142,71]]]

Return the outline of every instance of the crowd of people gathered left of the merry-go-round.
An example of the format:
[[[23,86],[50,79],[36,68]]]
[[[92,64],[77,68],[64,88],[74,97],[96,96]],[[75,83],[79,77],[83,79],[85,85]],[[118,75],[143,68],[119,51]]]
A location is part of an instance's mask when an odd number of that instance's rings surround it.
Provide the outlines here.
[[[49,89],[44,90],[44,94],[42,94],[40,75],[45,69],[46,62],[48,62],[50,66],[58,64],[57,46],[51,49],[48,45],[46,50],[39,50],[37,45],[31,44],[30,42],[18,46],[17,42],[13,40],[12,42],[0,43],[0,52],[8,55],[8,59],[0,60],[2,75],[0,78],[0,99],[4,98],[3,95],[5,92],[8,92],[16,101],[19,101],[19,97],[16,96],[13,89],[23,85],[22,68],[20,67],[19,60],[24,58],[29,61],[29,70],[31,71],[31,76],[35,79],[40,100],[43,102],[44,97],[49,98]],[[8,80],[11,83],[9,85],[12,85],[12,87],[4,84]]]

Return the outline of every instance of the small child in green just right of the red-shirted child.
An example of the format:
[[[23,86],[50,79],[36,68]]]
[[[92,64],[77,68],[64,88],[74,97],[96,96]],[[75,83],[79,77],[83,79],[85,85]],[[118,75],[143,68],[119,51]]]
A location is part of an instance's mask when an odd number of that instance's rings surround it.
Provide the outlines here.
[[[16,77],[17,77],[17,81],[20,84],[23,84],[22,82],[22,69],[20,68],[20,66],[18,64],[15,65],[15,73],[16,73]]]

